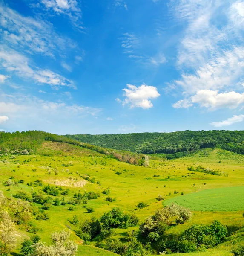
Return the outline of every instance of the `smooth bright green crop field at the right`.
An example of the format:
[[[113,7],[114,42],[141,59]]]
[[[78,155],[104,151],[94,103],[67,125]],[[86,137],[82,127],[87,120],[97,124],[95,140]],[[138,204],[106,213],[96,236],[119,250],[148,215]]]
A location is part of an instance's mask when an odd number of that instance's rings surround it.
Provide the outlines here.
[[[238,211],[244,210],[244,186],[206,189],[181,195],[164,201],[189,207],[193,211]]]

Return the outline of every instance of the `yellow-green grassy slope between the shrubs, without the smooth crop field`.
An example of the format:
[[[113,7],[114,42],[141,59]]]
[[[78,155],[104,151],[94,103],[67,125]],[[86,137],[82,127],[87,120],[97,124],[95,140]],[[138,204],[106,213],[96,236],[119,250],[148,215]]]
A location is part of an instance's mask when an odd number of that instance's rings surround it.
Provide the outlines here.
[[[196,191],[201,191],[204,189],[229,187],[229,186],[243,186],[244,184],[244,156],[230,153],[223,150],[204,150],[207,152],[203,154],[200,153],[184,157],[177,160],[168,161],[151,161],[151,167],[145,168],[143,166],[132,166],[128,163],[118,162],[115,159],[106,158],[106,156],[94,153],[87,149],[81,149],[80,147],[74,145],[67,145],[62,143],[46,142],[39,153],[46,154],[46,156],[36,155],[36,156],[18,156],[18,162],[20,163],[20,168],[17,168],[16,159],[6,158],[10,163],[0,163],[0,181],[5,181],[9,177],[14,176],[14,180],[23,179],[24,184],[20,184],[18,187],[11,187],[8,192],[7,187],[4,187],[0,183],[0,190],[3,190],[4,194],[8,197],[14,195],[18,190],[23,189],[26,192],[31,191],[31,187],[27,186],[26,183],[33,182],[34,180],[43,180],[44,185],[49,182],[49,180],[67,180],[68,177],[72,176],[82,180],[76,172],[79,174],[89,174],[90,177],[95,177],[96,181],[101,182],[101,186],[92,183],[86,183],[83,188],[70,188],[69,196],[66,196],[66,200],[72,198],[75,192],[79,190],[83,192],[86,191],[96,191],[102,192],[104,188],[110,187],[111,193],[109,196],[116,197],[117,201],[109,203],[105,200],[106,195],[101,194],[101,197],[97,200],[90,200],[88,206],[95,209],[92,214],[86,213],[86,210],[82,208],[82,204],[75,206],[75,211],[68,211],[66,206],[52,206],[49,210],[50,220],[48,221],[35,221],[38,227],[41,227],[38,234],[42,237],[42,241],[49,242],[49,234],[54,230],[60,230],[66,228],[66,225],[70,226],[72,229],[75,227],[69,223],[68,219],[72,218],[73,215],[78,215],[80,221],[90,218],[91,216],[99,217],[103,212],[109,211],[112,207],[118,206],[123,208],[128,212],[135,212],[141,221],[148,215],[152,215],[155,209],[161,208],[161,201],[157,201],[155,198],[161,194],[166,198],[173,198],[179,194],[174,194],[174,190],[178,192],[191,193]],[[203,157],[204,156],[204,157]],[[73,166],[63,167],[63,163],[73,162]],[[221,163],[218,163],[221,161]],[[192,164],[202,165],[204,167],[209,167],[211,169],[220,169],[221,171],[228,174],[226,176],[215,176],[215,175],[204,175],[204,173],[197,173],[195,175],[187,176],[183,178],[182,175],[187,175],[189,172],[187,170],[188,166]],[[55,175],[52,173],[48,175],[45,169],[40,168],[41,166],[55,166],[58,167],[60,173]],[[69,169],[69,173],[61,172],[61,169]],[[15,169],[15,172],[13,172]],[[37,169],[33,172],[33,169]],[[116,175],[115,172],[122,172],[121,175]],[[160,177],[153,177],[154,175],[160,175]],[[168,176],[170,178],[168,179]],[[195,186],[193,186],[195,183]],[[207,183],[204,185],[204,183]],[[166,187],[164,187],[166,185]],[[34,188],[35,191],[39,191],[41,187]],[[171,196],[166,196],[172,193]],[[136,209],[135,205],[144,201],[148,204],[148,207],[144,209]],[[36,204],[36,206],[38,206]],[[136,209],[136,210],[135,210]],[[218,219],[223,224],[229,226],[230,231],[235,231],[241,227],[244,227],[243,211],[235,212],[193,212],[192,221],[186,224],[179,225],[169,229],[169,233],[180,233],[184,229],[188,228],[195,223],[210,223],[212,220]],[[231,226],[231,227],[230,227]],[[138,229],[138,227],[136,227]],[[21,234],[19,237],[19,242],[29,233],[24,230],[18,231]],[[115,236],[124,236],[126,230],[117,229],[115,230]],[[233,238],[238,236],[238,239],[242,241],[243,233],[238,231],[237,234],[233,235]],[[72,239],[79,242],[80,239],[75,236],[72,232]],[[92,243],[96,245],[96,242]],[[227,247],[226,247],[227,246]],[[230,242],[221,245],[223,250],[230,246]],[[94,250],[93,250],[94,249]],[[16,249],[18,250],[18,249]],[[96,255],[96,251],[99,250],[93,247],[79,247],[78,255]],[[85,253],[87,251],[87,253]],[[89,252],[89,253],[88,253]],[[101,252],[99,250],[98,255],[114,255],[112,253],[107,253],[106,251]],[[102,254],[103,253],[103,254]],[[198,254],[187,254],[197,256]],[[205,255],[218,255],[218,254],[201,254]],[[228,255],[220,254],[219,255]]]

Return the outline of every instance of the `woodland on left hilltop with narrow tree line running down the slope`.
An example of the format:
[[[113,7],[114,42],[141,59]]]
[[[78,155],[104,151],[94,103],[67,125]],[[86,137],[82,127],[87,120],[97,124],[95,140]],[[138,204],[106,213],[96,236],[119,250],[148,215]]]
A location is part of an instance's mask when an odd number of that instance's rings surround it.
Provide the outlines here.
[[[116,158],[121,162],[127,162],[139,166],[143,164],[145,165],[147,163],[147,161],[145,161],[146,156],[143,154],[121,150],[118,151],[109,148],[103,148],[97,145],[90,145],[63,135],[50,134],[45,131],[16,131],[13,133],[0,132],[0,153],[1,151],[3,153],[11,151],[12,154],[36,153],[37,149],[41,147],[44,141],[55,141],[77,145],[82,148],[87,148],[92,151],[99,152],[101,154],[106,154],[107,156]]]

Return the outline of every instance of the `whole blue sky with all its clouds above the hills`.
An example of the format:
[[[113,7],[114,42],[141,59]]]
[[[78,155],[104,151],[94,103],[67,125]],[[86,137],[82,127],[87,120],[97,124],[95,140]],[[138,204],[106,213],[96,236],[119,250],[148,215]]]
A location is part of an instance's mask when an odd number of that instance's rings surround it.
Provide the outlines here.
[[[0,130],[244,127],[244,1],[0,0]]]

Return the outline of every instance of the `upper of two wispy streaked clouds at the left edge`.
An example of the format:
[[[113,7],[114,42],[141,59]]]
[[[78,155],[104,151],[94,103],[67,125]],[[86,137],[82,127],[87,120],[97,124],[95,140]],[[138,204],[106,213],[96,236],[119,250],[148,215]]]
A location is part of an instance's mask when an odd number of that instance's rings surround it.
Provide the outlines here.
[[[54,58],[57,54],[63,55],[64,52],[78,49],[74,41],[57,35],[51,23],[24,17],[6,6],[0,6],[0,26],[1,42],[16,50]]]

